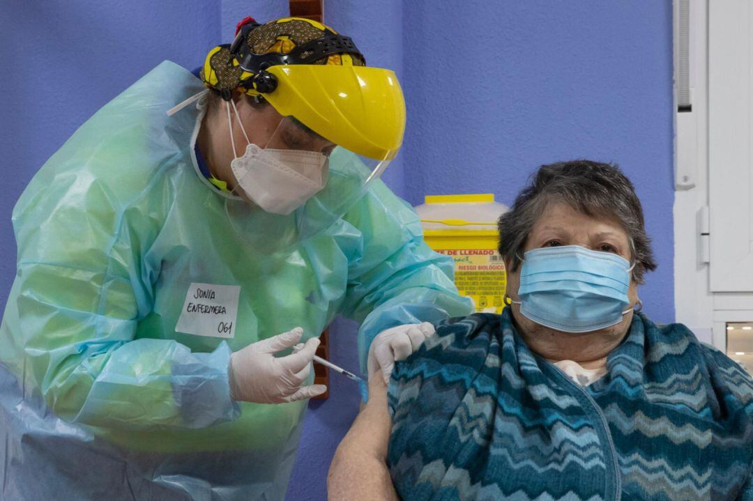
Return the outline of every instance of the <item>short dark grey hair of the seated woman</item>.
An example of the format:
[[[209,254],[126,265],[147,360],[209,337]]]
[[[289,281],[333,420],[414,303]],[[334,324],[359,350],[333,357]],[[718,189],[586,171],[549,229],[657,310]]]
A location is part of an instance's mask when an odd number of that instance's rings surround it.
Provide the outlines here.
[[[499,254],[511,260],[510,271],[520,266],[528,235],[553,201],[565,202],[589,216],[618,220],[630,240],[636,263],[633,280],[637,283],[643,283],[646,270],[656,269],[641,202],[630,180],[616,164],[572,160],[541,165],[511,210],[499,218]]]

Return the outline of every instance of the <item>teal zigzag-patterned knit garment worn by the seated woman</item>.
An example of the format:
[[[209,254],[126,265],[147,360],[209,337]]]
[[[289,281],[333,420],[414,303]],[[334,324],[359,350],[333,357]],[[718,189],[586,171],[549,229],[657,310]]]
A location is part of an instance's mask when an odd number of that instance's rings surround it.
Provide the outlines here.
[[[437,326],[389,385],[402,499],[753,501],[753,380],[681,324],[633,317],[580,387],[508,308]]]

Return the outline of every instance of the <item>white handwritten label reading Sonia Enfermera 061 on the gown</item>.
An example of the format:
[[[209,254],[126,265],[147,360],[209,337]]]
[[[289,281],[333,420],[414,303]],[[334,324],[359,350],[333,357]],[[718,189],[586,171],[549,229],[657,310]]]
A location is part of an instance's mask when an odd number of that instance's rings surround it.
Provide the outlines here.
[[[239,296],[239,285],[191,284],[175,332],[233,338]]]

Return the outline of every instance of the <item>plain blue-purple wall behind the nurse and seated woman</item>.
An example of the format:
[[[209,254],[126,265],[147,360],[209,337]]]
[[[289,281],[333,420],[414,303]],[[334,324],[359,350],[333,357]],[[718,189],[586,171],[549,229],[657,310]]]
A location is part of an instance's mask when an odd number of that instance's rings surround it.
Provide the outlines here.
[[[633,180],[660,267],[641,296],[674,319],[672,20],[663,2],[326,0],[325,19],[370,65],[394,68],[407,99],[404,149],[387,183],[425,194],[492,191],[508,205],[537,165],[589,157]],[[43,7],[44,5],[44,7]],[[11,210],[23,187],[96,109],[163,59],[187,68],[280,0],[11,0],[0,7],[6,68],[0,148],[0,302],[15,273]],[[332,329],[334,361],[356,369],[355,325]],[[358,410],[348,380],[312,402],[288,499],[325,499],[337,442]]]

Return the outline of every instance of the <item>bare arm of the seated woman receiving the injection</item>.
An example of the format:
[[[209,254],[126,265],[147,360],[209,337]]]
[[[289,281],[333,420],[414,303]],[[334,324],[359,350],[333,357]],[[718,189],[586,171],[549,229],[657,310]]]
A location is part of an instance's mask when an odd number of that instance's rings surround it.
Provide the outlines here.
[[[387,384],[381,371],[369,378],[369,401],[335,451],[327,477],[328,499],[392,501],[398,499],[387,470],[392,418]]]

